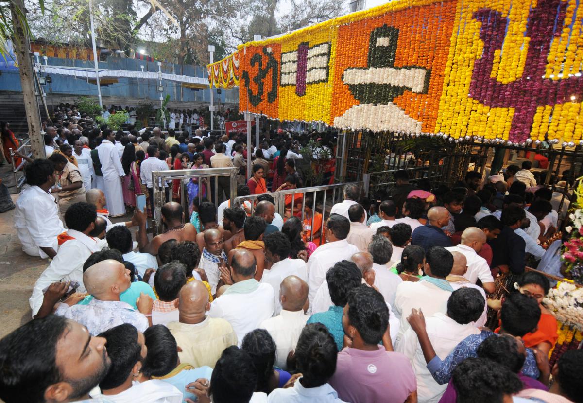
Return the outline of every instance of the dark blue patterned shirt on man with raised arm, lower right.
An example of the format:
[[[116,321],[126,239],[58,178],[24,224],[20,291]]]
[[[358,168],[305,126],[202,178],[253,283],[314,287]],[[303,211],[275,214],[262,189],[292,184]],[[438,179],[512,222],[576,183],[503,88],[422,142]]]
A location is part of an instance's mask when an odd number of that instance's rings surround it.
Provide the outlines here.
[[[476,351],[478,346],[491,335],[498,336],[498,334],[493,333],[490,330],[483,330],[480,334],[469,335],[459,342],[444,360],[435,356],[429,363],[427,363],[427,369],[429,369],[433,379],[435,379],[440,385],[448,383],[455,367],[466,358],[477,357]],[[540,376],[538,366],[536,366],[535,354],[529,348],[526,349],[526,359],[524,361],[524,366],[522,366],[522,374],[533,379],[538,379]]]

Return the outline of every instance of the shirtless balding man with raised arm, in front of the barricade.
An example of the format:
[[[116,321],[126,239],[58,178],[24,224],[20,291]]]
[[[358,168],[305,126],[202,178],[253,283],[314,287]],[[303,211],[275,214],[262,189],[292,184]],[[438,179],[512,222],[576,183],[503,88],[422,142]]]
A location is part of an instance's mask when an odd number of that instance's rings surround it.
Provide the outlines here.
[[[196,228],[191,223],[184,222],[184,212],[180,203],[167,202],[162,206],[161,213],[162,222],[164,227],[166,227],[166,231],[153,237],[149,243],[147,243],[146,219],[142,218],[139,223],[136,238],[138,239],[138,243],[145,244],[144,247],[140,248],[141,252],[156,256],[160,245],[170,239],[175,239],[178,242],[196,242]]]

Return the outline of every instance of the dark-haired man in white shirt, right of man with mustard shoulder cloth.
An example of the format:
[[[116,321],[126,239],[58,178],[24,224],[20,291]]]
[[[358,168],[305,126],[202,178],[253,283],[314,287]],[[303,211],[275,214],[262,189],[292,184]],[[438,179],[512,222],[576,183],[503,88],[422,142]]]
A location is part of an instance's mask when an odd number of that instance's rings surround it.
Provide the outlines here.
[[[271,262],[269,270],[264,270],[261,283],[273,288],[273,314],[279,315],[282,305],[279,299],[279,289],[287,276],[297,276],[307,281],[308,274],[305,262],[301,259],[290,259],[290,240],[281,232],[273,232],[263,239],[265,243],[265,261]]]

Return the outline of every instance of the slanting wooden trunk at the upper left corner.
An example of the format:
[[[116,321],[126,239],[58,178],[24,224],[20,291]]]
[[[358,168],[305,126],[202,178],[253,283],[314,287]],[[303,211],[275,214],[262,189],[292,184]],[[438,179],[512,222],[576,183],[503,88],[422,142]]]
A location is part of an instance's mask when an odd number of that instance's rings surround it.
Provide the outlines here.
[[[30,52],[29,32],[23,25],[18,14],[15,12],[16,7],[22,10],[26,16],[23,0],[14,0],[10,2],[10,12],[12,12],[12,23],[14,29],[14,51],[18,59],[18,69],[20,72],[20,86],[22,86],[22,97],[24,99],[24,110],[26,121],[29,124],[29,138],[31,150],[34,158],[46,158],[44,151],[43,125],[38,113],[38,104],[34,91],[34,72]]]

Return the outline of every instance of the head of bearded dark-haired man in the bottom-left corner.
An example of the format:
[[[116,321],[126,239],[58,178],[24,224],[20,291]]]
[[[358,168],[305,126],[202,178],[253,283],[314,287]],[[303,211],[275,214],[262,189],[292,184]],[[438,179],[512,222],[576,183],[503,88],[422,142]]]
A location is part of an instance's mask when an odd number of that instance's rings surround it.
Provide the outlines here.
[[[106,340],[83,325],[50,315],[0,341],[0,398],[6,403],[90,401],[111,359]]]

